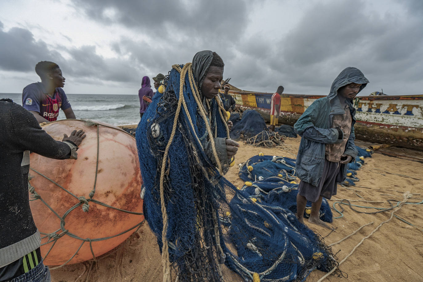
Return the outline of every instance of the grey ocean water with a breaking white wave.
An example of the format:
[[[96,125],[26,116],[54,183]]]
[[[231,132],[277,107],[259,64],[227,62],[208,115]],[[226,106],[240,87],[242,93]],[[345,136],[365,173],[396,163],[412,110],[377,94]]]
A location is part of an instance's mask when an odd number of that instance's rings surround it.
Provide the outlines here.
[[[77,119],[90,119],[114,125],[136,124],[140,121],[138,95],[66,94]],[[0,99],[9,98],[22,105],[22,93],[0,93]],[[59,110],[59,119],[65,114]]]

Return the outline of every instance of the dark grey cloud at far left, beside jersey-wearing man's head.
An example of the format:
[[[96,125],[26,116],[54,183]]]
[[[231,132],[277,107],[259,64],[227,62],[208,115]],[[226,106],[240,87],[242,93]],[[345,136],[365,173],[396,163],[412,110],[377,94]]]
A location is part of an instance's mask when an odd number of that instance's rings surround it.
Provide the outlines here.
[[[12,27],[3,30],[0,22],[0,69],[5,71],[33,71],[41,60],[54,60],[60,64],[63,57],[50,50],[44,41],[36,41],[33,34],[24,28]]]

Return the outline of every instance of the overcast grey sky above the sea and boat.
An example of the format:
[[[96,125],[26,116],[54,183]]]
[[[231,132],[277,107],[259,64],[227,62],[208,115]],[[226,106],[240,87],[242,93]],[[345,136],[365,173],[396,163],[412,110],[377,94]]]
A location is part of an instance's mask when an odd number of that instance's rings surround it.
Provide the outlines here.
[[[0,93],[59,64],[66,93],[137,94],[210,49],[244,90],[329,92],[359,68],[363,94],[423,94],[422,0],[1,0]]]

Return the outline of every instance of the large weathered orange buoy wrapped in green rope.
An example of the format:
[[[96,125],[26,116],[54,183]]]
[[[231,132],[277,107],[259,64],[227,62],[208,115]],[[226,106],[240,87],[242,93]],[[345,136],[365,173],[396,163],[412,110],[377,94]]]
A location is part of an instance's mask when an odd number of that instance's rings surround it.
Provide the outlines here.
[[[80,263],[110,251],[144,219],[135,138],[97,121],[58,120],[42,128],[60,141],[75,129],[87,135],[77,160],[30,154],[30,206],[44,263]]]

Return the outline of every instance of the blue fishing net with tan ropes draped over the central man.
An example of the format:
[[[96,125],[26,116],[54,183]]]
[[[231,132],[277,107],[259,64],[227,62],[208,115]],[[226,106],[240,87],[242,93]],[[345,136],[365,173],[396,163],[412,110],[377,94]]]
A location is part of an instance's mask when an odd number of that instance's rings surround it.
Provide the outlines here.
[[[330,247],[270,200],[281,197],[280,189],[254,201],[206,156],[204,142],[228,134],[220,99],[196,101],[190,65],[182,67],[170,71],[165,92],[153,97],[136,132],[144,213],[173,273],[179,281],[231,281],[222,272],[227,267],[245,281],[253,275],[303,281],[313,269],[331,270],[337,263]]]

